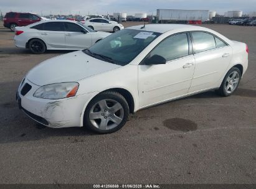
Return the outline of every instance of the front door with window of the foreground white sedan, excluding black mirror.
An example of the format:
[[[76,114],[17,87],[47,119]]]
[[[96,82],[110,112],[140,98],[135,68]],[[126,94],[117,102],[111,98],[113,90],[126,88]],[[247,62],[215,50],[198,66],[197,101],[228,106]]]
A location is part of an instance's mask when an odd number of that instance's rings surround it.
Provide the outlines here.
[[[161,103],[187,93],[194,73],[194,56],[188,34],[176,34],[164,39],[145,58],[153,55],[166,59],[162,65],[138,65],[140,108]]]

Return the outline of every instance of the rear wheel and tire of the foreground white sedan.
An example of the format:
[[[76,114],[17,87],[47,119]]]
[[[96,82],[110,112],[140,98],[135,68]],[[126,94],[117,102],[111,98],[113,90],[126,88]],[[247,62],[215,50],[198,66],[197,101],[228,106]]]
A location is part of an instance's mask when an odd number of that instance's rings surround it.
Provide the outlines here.
[[[241,71],[237,67],[232,67],[224,77],[217,93],[220,96],[230,96],[237,90],[241,80]]]

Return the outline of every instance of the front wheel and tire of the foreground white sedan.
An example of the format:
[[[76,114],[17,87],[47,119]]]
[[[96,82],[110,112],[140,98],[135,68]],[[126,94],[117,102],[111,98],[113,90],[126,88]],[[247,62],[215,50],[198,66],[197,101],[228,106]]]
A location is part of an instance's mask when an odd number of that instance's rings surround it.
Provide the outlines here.
[[[100,134],[115,132],[125,125],[129,112],[128,103],[120,93],[106,91],[88,104],[83,115],[83,126]]]

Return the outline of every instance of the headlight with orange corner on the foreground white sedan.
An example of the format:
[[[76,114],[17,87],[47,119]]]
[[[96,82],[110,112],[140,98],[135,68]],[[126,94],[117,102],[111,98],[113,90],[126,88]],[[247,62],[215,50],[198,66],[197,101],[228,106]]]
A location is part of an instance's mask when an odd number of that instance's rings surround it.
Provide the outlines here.
[[[41,86],[34,93],[34,97],[46,99],[60,99],[75,96],[78,90],[78,83],[54,83],[50,85]]]

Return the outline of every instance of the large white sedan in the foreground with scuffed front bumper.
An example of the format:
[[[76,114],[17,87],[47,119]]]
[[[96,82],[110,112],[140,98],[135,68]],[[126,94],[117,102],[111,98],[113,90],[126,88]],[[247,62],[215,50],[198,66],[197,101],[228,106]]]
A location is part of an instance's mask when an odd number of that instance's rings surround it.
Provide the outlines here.
[[[246,44],[204,27],[133,26],[32,68],[17,103],[45,126],[115,132],[142,108],[207,90],[234,93],[248,52]]]

